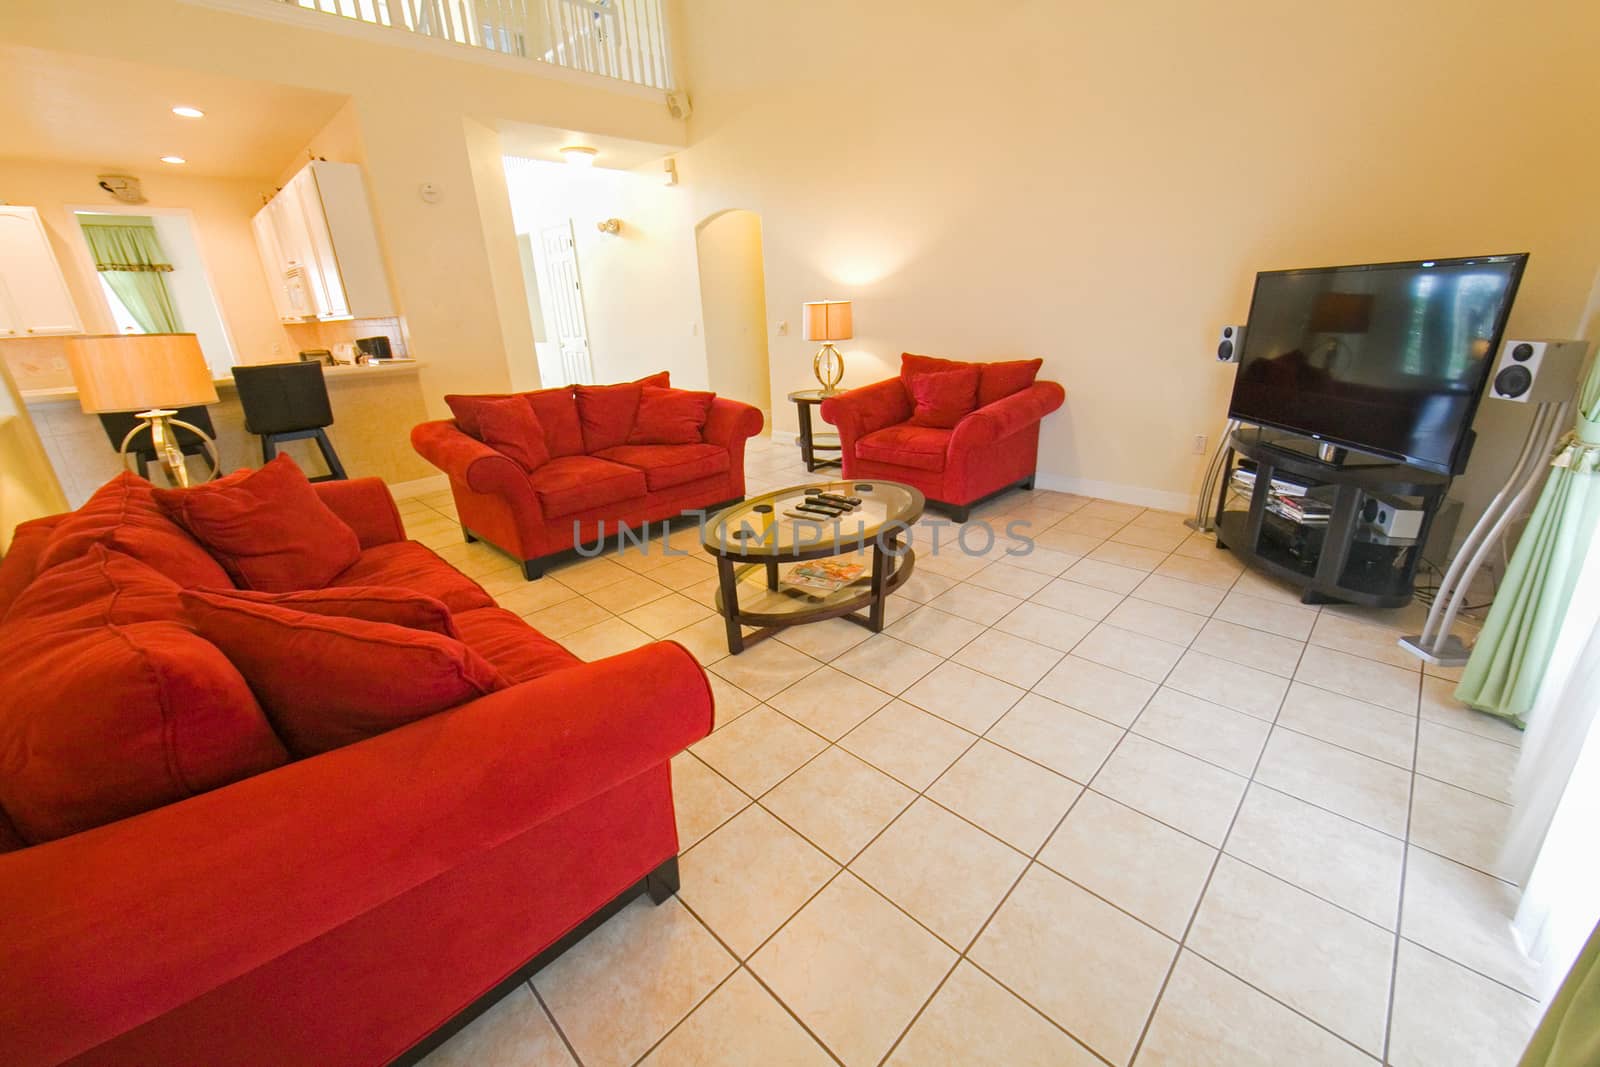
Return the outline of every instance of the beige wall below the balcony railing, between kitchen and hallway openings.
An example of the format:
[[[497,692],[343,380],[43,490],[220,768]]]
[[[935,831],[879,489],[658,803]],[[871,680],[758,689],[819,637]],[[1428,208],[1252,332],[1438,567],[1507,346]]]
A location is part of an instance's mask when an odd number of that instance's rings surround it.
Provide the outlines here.
[[[395,30],[283,5],[262,2],[259,11],[274,18],[181,0],[10,0],[0,37],[350,96],[350,114],[314,146],[366,163],[408,347],[426,363],[429,411],[446,411],[445,392],[531,384],[526,306],[498,299],[520,286],[520,269],[514,235],[498,226],[502,192],[483,165],[494,150],[469,123],[501,118],[666,144],[683,141],[683,123],[654,91],[554,70],[541,77],[536,64],[438,42],[410,48],[392,43]],[[299,160],[288,163],[293,173]],[[419,197],[422,182],[440,187],[437,203]]]

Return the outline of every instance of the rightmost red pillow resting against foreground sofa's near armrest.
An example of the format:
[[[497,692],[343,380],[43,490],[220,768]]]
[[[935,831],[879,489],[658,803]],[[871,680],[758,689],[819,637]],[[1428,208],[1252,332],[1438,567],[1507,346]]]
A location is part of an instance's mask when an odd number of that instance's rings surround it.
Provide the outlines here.
[[[184,590],[200,635],[221,648],[288,750],[317,755],[504,689],[458,640],[387,622],[331,619]]]

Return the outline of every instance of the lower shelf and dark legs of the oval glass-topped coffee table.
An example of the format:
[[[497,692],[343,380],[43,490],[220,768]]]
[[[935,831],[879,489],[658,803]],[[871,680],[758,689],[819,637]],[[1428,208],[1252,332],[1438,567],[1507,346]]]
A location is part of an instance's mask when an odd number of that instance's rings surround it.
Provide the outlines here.
[[[830,593],[813,593],[778,581],[778,568],[792,560],[766,560],[762,563],[736,563],[717,560],[720,579],[715,608],[728,627],[728,651],[742,653],[747,646],[766,640],[779,630],[824,619],[848,619],[874,633],[883,629],[883,605],[888,595],[904,585],[917,565],[917,552],[907,544],[901,555],[891,555],[874,545],[872,571]],[[765,582],[747,581],[765,573]],[[730,611],[730,605],[733,609]],[[866,616],[856,614],[862,608]],[[746,635],[744,627],[757,627]]]

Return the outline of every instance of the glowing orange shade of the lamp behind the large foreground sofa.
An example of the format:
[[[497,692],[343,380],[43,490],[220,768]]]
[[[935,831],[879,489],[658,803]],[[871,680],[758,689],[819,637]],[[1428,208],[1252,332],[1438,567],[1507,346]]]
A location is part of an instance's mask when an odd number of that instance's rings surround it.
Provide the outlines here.
[[[67,366],[90,414],[216,403],[211,368],[192,333],[67,338]]]

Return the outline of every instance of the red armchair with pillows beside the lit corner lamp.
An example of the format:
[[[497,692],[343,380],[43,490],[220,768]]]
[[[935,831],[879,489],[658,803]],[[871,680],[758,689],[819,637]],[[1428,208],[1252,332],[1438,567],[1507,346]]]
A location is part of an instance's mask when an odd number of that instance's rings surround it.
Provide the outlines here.
[[[971,506],[1011,486],[1034,488],[1038,426],[1066,400],[1056,382],[1034,381],[1042,360],[962,363],[904,354],[901,376],[822,402],[838,427],[845,478],[885,478],[922,490],[930,504],[966,522]],[[918,378],[962,379],[962,400],[918,405]]]

